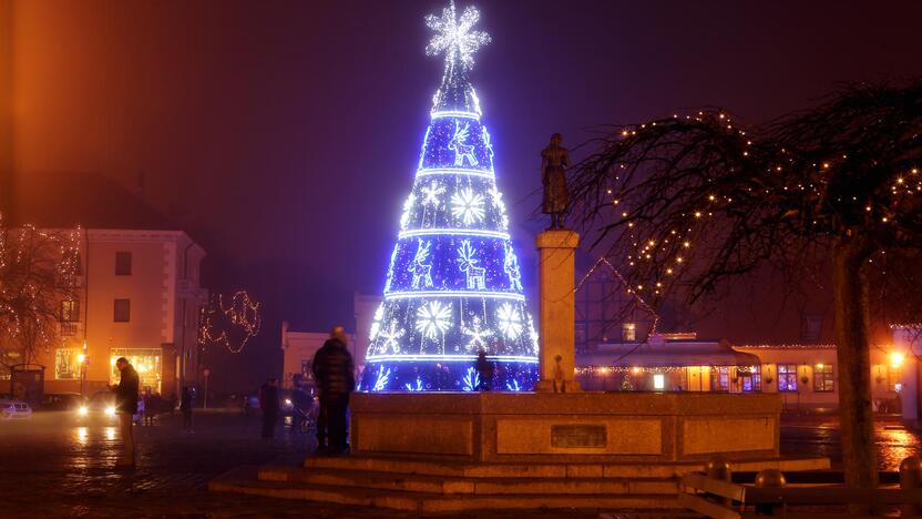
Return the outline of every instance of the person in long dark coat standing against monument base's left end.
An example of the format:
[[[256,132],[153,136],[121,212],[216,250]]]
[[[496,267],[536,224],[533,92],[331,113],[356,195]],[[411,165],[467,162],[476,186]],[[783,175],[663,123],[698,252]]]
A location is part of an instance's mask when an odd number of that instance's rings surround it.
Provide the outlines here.
[[[346,329],[337,326],[324,347],[314,355],[311,369],[320,394],[320,415],[317,420],[318,449],[327,447],[331,454],[345,452],[349,394],[356,388],[352,356],[346,348],[349,343]]]

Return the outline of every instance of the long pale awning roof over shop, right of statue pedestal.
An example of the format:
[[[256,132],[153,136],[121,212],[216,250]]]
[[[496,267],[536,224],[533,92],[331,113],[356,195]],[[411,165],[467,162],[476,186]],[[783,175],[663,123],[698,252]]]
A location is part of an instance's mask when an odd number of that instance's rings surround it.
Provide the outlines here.
[[[759,357],[734,350],[725,342],[670,342],[601,344],[592,353],[577,353],[580,367],[685,367],[758,366]]]

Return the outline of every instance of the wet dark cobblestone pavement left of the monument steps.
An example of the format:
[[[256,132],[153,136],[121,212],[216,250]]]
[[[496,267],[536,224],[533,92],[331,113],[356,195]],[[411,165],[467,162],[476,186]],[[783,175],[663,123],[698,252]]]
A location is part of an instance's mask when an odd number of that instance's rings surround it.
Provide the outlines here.
[[[44,517],[406,517],[388,510],[269,499],[206,490],[208,480],[240,465],[296,464],[313,448],[307,435],[277,429],[259,439],[259,418],[196,415],[195,434],[180,416],[136,427],[137,469],[113,469],[121,446],[114,420],[93,425],[71,415],[37,413],[0,421],[0,518]],[[444,516],[450,517],[450,516]],[[595,513],[484,512],[458,517],[595,517]]]

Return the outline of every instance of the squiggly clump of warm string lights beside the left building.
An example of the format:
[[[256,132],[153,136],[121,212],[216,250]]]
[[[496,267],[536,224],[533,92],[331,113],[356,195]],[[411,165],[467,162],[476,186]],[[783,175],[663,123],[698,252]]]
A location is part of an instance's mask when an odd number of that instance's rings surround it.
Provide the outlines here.
[[[202,346],[221,344],[230,353],[240,353],[249,339],[259,333],[263,325],[259,305],[252,301],[245,291],[236,292],[227,306],[224,305],[224,295],[218,294],[213,297],[211,304],[202,308],[198,344]],[[243,334],[236,346],[228,334],[230,327],[239,329]]]

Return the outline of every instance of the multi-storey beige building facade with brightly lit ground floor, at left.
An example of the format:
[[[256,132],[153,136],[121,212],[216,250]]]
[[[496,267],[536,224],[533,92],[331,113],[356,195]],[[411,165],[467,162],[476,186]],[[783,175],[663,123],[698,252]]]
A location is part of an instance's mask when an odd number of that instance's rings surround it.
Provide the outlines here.
[[[81,231],[78,296],[61,304],[57,344],[39,352],[44,391],[105,389],[117,381],[119,357],[142,390],[178,395],[196,380],[204,257],[181,231]]]

